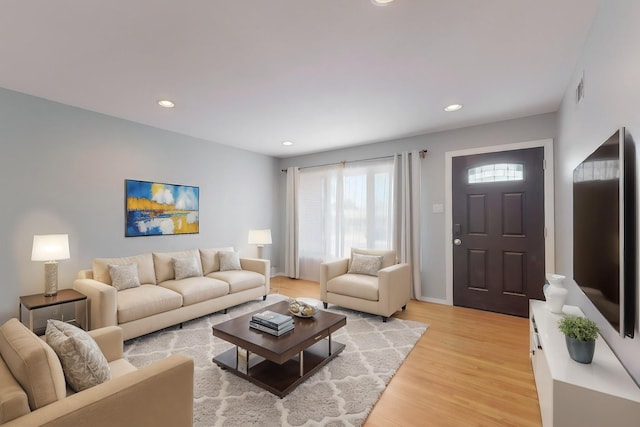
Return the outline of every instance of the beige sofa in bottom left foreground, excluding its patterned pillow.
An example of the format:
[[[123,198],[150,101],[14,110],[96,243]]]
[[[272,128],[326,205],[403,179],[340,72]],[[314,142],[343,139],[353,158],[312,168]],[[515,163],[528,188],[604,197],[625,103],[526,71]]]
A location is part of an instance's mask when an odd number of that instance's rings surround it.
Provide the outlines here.
[[[173,355],[136,369],[123,359],[122,330],[89,334],[111,379],[73,393],[56,353],[17,319],[0,326],[0,424],[17,426],[191,426],[193,360]]]

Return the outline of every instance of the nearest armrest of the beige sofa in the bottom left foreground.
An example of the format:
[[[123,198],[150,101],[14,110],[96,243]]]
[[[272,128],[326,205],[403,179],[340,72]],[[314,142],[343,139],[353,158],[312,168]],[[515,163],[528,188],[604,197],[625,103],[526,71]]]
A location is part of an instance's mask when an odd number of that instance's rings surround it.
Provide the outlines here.
[[[191,427],[193,359],[173,355],[19,417],[6,427]]]

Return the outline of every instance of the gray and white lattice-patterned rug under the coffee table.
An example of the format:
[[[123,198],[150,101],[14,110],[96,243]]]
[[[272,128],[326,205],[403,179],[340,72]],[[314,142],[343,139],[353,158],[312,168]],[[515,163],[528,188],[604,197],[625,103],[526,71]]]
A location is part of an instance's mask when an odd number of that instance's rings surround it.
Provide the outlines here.
[[[214,338],[217,323],[280,301],[269,295],[125,342],[137,367],[171,354],[195,360],[194,426],[360,426],[428,325],[329,306],[347,316],[332,337],[346,348],[315,375],[280,399],[219,368],[211,359],[233,347]]]

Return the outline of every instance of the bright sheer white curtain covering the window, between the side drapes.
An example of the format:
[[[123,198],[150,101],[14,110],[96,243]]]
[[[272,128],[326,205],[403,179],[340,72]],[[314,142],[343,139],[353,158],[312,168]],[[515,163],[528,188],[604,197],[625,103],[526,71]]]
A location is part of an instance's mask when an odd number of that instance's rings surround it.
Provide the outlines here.
[[[319,280],[320,263],[348,257],[352,247],[394,244],[392,158],[300,171],[300,277]]]

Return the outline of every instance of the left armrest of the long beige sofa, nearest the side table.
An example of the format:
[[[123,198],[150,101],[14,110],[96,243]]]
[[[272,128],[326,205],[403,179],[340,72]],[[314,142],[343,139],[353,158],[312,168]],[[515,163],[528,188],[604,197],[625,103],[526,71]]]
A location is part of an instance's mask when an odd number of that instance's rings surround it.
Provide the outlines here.
[[[89,325],[87,329],[104,328],[118,324],[118,291],[113,286],[93,279],[76,279],[73,289],[87,296]]]

